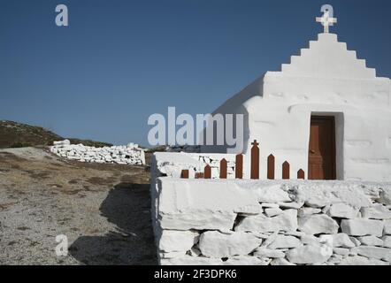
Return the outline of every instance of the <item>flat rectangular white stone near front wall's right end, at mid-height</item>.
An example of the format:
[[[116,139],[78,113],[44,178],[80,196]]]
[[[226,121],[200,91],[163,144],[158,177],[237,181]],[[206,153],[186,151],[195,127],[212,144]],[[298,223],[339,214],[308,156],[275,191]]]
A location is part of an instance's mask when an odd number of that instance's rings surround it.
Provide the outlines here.
[[[350,236],[374,235],[381,237],[384,223],[380,220],[370,219],[343,219],[341,230]]]

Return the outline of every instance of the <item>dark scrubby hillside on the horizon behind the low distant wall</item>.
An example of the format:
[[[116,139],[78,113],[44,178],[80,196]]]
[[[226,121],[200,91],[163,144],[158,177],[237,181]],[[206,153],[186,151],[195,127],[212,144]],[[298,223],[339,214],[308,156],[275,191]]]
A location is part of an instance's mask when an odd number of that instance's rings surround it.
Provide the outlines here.
[[[53,141],[65,138],[54,134],[41,126],[29,126],[12,121],[0,120],[0,149],[22,148],[51,145]],[[86,146],[111,146],[110,143],[69,139],[72,143],[82,143]]]

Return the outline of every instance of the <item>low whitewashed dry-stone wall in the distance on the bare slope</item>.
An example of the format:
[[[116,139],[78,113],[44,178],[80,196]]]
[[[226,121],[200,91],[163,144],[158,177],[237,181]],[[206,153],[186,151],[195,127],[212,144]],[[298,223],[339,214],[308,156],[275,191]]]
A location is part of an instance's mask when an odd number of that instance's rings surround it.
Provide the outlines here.
[[[127,146],[87,147],[82,144],[71,144],[68,140],[54,142],[50,151],[59,157],[80,162],[111,163],[111,164],[145,164],[144,149],[137,144],[129,143]]]

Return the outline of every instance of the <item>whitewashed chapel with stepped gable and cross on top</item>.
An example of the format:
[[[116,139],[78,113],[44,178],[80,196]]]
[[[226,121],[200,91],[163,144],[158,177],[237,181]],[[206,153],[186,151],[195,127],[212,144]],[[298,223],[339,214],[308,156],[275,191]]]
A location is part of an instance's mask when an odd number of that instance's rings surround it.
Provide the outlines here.
[[[328,11],[317,21],[324,26],[318,40],[214,114],[244,115],[244,153],[257,139],[261,179],[272,154],[276,164],[289,161],[292,175],[303,169],[306,179],[391,180],[391,80],[377,77],[356,51],[329,34],[336,19]]]

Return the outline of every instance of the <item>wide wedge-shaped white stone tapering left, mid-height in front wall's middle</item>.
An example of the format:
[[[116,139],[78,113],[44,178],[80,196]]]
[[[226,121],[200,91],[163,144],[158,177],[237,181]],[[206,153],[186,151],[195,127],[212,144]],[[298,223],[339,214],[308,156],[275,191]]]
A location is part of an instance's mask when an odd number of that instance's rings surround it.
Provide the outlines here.
[[[249,231],[258,233],[276,231],[295,231],[297,229],[297,210],[284,210],[278,216],[268,218],[265,215],[248,217],[235,227],[235,231]]]

